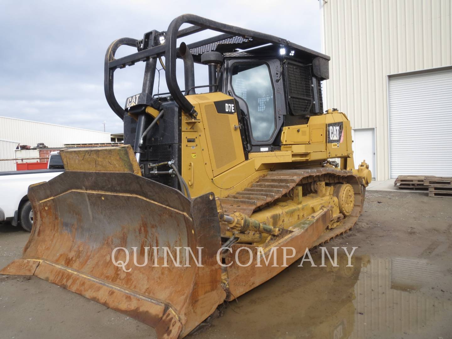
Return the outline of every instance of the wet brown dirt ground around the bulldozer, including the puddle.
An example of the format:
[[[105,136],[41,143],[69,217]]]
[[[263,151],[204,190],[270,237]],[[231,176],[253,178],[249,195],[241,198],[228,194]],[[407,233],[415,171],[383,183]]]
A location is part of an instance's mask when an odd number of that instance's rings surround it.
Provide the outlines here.
[[[221,307],[194,339],[452,338],[452,199],[368,191],[352,231],[353,267],[297,263]],[[0,226],[0,267],[28,233]],[[312,251],[321,264],[321,250]],[[328,259],[326,259],[328,262]],[[36,277],[0,276],[0,338],[155,338],[152,328]]]

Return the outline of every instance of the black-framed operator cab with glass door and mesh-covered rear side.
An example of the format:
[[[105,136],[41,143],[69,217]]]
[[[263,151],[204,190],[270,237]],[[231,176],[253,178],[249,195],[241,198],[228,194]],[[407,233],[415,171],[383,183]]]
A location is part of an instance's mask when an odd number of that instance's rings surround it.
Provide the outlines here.
[[[283,126],[303,124],[323,113],[323,78],[314,73],[312,60],[286,51],[270,45],[225,53],[220,90],[240,107],[250,152],[279,150]]]

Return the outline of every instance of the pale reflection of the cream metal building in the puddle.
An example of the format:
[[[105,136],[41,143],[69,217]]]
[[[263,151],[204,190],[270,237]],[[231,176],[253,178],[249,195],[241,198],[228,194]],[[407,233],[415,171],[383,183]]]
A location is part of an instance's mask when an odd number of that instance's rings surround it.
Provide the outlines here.
[[[436,286],[437,279],[444,278],[438,268],[426,260],[372,259],[361,268],[354,286],[355,326],[349,337],[427,334],[430,327],[440,323],[448,325],[444,322],[451,318],[450,300],[442,295],[437,297],[434,292],[410,292]],[[441,290],[438,292],[442,293]]]

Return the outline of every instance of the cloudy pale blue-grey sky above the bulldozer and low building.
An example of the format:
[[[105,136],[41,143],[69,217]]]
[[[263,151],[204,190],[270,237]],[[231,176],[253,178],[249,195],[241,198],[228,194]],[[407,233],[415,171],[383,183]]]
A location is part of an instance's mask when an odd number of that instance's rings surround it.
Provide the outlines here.
[[[0,0],[0,116],[98,131],[104,130],[105,121],[107,132],[122,132],[122,121],[104,96],[108,45],[117,38],[142,38],[152,29],[164,31],[184,13],[273,34],[320,51],[318,0],[214,4],[212,0]],[[209,33],[198,34],[203,38]],[[134,52],[124,48],[117,56]],[[204,67],[197,68],[202,74],[197,73],[196,85],[207,84]],[[143,71],[144,63],[140,63],[115,72],[120,104],[141,92]],[[164,80],[163,71],[160,75]],[[162,89],[165,85],[160,83]]]

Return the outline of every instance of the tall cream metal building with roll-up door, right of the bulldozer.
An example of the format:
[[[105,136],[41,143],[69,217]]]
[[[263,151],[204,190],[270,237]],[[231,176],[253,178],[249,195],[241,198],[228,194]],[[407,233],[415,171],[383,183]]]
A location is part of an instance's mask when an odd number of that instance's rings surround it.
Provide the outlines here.
[[[377,180],[452,176],[451,4],[320,0],[324,107],[347,114]]]

